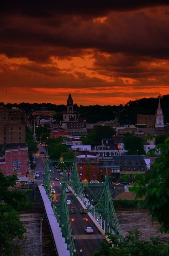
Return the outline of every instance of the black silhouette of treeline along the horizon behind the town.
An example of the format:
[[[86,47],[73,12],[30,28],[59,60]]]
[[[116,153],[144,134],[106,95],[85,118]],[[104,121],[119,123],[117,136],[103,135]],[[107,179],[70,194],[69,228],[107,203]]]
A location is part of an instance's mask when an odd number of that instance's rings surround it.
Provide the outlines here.
[[[4,104],[3,102],[1,104]],[[62,111],[66,110],[66,105],[56,105],[52,103],[7,103],[7,107],[16,106],[25,110],[26,114],[32,110],[54,110],[56,111],[55,118],[62,120]],[[169,95],[161,97],[161,107],[164,113],[164,122],[169,122]],[[90,106],[73,106],[81,117],[85,117],[88,123],[95,123],[99,121],[110,121],[117,118],[120,124],[136,124],[137,114],[154,115],[158,108],[157,98],[141,98],[139,100],[129,101],[126,105],[90,105]]]

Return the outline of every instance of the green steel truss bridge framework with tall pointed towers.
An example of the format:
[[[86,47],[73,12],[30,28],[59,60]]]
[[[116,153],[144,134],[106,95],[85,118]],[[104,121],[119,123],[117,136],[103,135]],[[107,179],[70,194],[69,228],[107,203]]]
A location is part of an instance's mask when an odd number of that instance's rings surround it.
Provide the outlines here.
[[[57,207],[55,206],[51,195],[51,170],[49,168],[49,161],[55,163],[55,169],[52,169],[52,172],[57,172],[58,168],[62,169],[63,172],[62,192],[60,202],[58,202]],[[71,176],[69,173],[71,173]],[[93,193],[91,187],[99,189],[97,195]],[[48,198],[51,201],[57,222],[61,227],[62,237],[65,238],[67,249],[70,250],[70,256],[74,256],[75,244],[73,240],[69,209],[67,205],[66,188],[69,188],[74,195],[73,200],[78,199],[78,201],[81,201],[83,211],[91,213],[104,232],[110,232],[114,235],[118,235],[119,239],[123,240],[123,235],[118,223],[116,212],[114,210],[109,189],[107,170],[105,182],[82,183],[78,175],[76,159],[63,160],[63,158],[60,158],[59,160],[49,160],[47,157],[44,188]],[[88,199],[88,194],[86,195],[84,190],[87,190],[88,193],[92,195],[91,200]],[[76,212],[80,212],[80,210],[76,210]]]

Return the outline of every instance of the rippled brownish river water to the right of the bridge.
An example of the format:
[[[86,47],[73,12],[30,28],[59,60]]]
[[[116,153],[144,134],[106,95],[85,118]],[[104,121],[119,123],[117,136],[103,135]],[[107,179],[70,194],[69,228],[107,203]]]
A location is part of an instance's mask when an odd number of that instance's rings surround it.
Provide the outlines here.
[[[139,228],[142,238],[148,240],[150,236],[157,236],[164,241],[169,240],[169,235],[157,232],[159,224],[151,222],[147,209],[116,208],[117,218],[124,236],[128,230]]]

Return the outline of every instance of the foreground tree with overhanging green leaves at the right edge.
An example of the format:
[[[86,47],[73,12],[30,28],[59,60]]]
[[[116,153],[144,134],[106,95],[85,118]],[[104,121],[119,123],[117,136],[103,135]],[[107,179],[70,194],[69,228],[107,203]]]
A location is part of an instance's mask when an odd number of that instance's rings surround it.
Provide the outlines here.
[[[151,166],[148,187],[145,187],[145,177],[138,177],[135,186],[139,186],[136,196],[145,200],[140,207],[147,207],[152,215],[152,221],[160,223],[160,231],[169,233],[169,138],[164,144],[149,150],[148,155],[155,155],[160,150],[161,155]]]

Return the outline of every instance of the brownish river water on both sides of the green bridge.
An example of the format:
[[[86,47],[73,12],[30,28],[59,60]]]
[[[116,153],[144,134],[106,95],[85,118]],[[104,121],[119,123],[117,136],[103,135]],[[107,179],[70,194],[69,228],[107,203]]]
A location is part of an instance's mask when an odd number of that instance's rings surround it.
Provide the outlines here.
[[[124,236],[127,235],[128,230],[139,228],[142,233],[141,238],[145,240],[149,240],[150,236],[157,236],[163,241],[169,240],[169,235],[157,232],[159,224],[157,222],[151,222],[151,217],[148,216],[147,209],[116,208],[116,214]],[[43,215],[41,213],[20,214],[20,219],[27,230],[24,235],[28,237],[29,241],[31,241],[30,253],[33,256],[40,255],[40,218],[42,216]],[[56,255],[52,237],[45,218],[42,222],[42,242],[42,256]]]

